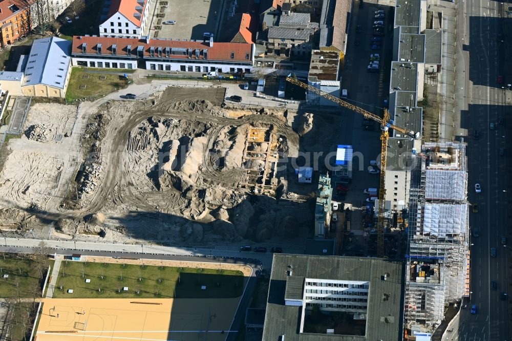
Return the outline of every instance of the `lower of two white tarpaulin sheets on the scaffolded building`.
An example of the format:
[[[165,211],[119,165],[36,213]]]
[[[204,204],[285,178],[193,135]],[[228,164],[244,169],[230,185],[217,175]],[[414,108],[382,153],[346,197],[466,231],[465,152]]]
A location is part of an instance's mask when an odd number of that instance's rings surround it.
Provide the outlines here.
[[[440,238],[465,232],[467,205],[425,204],[423,235]]]

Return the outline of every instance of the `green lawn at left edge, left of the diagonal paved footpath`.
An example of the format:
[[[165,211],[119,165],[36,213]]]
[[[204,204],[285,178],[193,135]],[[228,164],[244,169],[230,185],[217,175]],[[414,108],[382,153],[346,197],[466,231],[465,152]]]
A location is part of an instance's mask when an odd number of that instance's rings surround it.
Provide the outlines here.
[[[53,266],[53,261],[48,260]],[[47,270],[43,271],[44,278],[41,280],[41,272],[36,262],[28,258],[0,257],[0,297],[32,298],[41,297],[42,282],[46,278]],[[48,268],[46,268],[48,269]],[[4,274],[9,275],[3,278]]]

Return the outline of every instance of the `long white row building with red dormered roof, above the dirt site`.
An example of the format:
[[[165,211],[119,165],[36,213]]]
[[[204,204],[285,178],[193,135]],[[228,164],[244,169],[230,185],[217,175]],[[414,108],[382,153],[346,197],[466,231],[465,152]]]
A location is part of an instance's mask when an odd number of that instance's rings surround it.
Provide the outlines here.
[[[182,72],[249,73],[254,44],[167,39],[73,37],[73,66]]]

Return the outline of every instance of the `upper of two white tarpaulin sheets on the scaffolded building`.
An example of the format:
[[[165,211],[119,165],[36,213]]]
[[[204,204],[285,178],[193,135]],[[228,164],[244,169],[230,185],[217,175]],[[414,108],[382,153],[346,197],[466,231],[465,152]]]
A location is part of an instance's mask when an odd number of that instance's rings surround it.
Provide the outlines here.
[[[466,172],[427,169],[425,175],[425,199],[465,200]]]

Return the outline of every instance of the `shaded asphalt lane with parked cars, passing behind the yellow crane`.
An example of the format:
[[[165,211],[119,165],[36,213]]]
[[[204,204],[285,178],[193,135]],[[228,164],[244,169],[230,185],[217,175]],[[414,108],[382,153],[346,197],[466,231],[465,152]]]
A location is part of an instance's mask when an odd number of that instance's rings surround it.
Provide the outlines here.
[[[345,67],[342,72],[342,89],[348,90],[348,101],[361,108],[382,114],[383,101],[389,94],[389,73],[392,59],[392,24],[393,8],[381,6],[374,2],[365,1],[362,8],[360,0],[356,0],[353,6],[353,16],[348,31],[347,54],[345,55]],[[375,18],[375,11],[383,10],[383,18]],[[372,38],[375,21],[383,21],[384,35],[379,36],[381,44],[372,49]],[[358,28],[359,26],[359,28]],[[378,72],[368,72],[367,68],[370,55],[378,53]],[[353,145],[354,154],[360,153],[361,160],[357,157],[353,161],[353,177],[348,184],[348,191],[345,197],[337,196],[334,192],[334,200],[351,204],[351,230],[344,238],[344,251],[346,255],[366,254],[366,233],[363,230],[364,212],[366,210],[367,194],[365,188],[378,188],[380,174],[369,174],[371,160],[380,160],[380,130],[377,123],[373,123],[371,129],[363,129],[363,117],[353,112],[344,113],[351,116],[352,130],[344,131],[344,141]],[[376,168],[376,167],[374,167]],[[338,184],[335,184],[338,186]],[[336,187],[335,187],[336,188]],[[343,199],[344,198],[344,199]],[[374,205],[374,202],[371,203]],[[370,242],[370,245],[372,243]],[[375,250],[373,250],[375,251]]]

